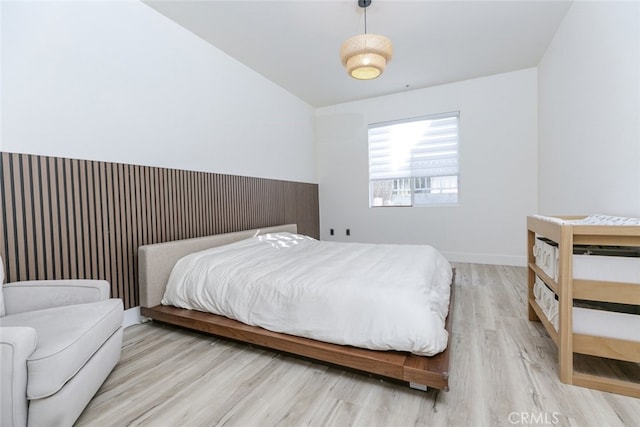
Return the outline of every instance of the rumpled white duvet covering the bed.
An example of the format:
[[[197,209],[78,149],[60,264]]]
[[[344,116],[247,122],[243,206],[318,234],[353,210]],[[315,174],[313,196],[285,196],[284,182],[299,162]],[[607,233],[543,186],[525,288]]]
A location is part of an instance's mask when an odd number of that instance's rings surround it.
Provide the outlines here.
[[[432,356],[447,346],[451,274],[426,245],[267,234],[182,258],[162,304],[319,341]]]

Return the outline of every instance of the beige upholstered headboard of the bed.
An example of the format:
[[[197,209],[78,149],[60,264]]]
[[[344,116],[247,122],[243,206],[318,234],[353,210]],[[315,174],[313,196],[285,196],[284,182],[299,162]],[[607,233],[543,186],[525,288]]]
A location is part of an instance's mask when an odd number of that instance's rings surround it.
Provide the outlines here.
[[[185,255],[248,239],[260,234],[285,231],[296,233],[297,230],[296,224],[285,224],[140,246],[138,248],[140,306],[155,307],[160,304],[173,266]]]

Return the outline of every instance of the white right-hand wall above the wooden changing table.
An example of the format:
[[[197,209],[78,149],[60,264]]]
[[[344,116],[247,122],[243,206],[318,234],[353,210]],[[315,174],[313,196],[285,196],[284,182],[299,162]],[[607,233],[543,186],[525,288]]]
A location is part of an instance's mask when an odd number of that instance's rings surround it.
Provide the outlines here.
[[[640,3],[574,2],[538,86],[540,213],[640,216]]]

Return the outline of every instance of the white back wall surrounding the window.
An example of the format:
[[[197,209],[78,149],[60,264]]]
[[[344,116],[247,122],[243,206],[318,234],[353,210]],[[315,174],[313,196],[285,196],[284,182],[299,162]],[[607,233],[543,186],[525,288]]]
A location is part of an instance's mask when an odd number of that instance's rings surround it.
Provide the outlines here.
[[[456,110],[459,205],[369,208],[367,125]],[[537,210],[536,69],[330,106],[316,115],[322,239],[428,243],[452,261],[524,265],[526,215]]]

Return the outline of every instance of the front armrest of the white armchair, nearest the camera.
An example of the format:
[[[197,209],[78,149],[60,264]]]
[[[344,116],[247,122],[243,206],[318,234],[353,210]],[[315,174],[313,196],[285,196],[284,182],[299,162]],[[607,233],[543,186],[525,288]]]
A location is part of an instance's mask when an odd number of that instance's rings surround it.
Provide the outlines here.
[[[27,326],[0,326],[0,425],[27,425],[27,358],[37,338]]]

